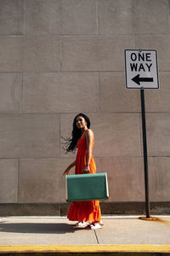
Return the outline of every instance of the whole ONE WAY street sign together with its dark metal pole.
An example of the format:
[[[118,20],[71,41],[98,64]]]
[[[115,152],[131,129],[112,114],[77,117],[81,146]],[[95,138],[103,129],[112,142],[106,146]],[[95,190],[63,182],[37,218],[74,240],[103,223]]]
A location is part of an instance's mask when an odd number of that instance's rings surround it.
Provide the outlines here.
[[[146,218],[150,219],[148,156],[144,108],[144,89],[158,89],[158,69],[156,49],[125,49],[126,88],[139,89],[141,96],[143,149],[144,149],[144,189]],[[153,218],[152,218],[153,219]]]

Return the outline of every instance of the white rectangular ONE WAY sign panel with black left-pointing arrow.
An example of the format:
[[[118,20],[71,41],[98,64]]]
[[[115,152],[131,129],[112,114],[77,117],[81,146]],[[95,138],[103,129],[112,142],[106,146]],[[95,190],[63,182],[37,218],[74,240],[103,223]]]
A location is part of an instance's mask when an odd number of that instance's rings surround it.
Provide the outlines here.
[[[125,49],[127,89],[158,89],[156,49]]]

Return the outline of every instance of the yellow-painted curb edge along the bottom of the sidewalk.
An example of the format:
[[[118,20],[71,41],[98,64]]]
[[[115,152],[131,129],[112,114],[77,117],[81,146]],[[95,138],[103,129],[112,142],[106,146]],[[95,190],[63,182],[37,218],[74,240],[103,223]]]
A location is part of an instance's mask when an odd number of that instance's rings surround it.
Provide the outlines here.
[[[128,244],[128,245],[20,245],[0,246],[4,253],[168,253],[170,245]],[[38,254],[39,255],[39,254]],[[79,254],[80,255],[80,254]]]

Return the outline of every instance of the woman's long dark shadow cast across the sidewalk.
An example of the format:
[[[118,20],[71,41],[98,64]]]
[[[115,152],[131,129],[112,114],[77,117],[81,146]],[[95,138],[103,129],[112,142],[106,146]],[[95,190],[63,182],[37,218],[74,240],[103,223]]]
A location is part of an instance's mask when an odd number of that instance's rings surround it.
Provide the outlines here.
[[[73,225],[65,223],[0,223],[0,232],[10,233],[65,234],[77,230],[81,229],[75,229]]]

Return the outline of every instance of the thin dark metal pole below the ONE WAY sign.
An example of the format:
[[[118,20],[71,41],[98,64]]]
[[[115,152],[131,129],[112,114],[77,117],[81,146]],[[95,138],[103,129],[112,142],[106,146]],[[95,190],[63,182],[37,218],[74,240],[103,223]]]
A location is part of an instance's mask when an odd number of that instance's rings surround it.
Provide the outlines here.
[[[148,155],[146,140],[146,122],[144,107],[144,89],[140,90],[141,111],[142,111],[142,131],[143,131],[143,150],[144,150],[144,188],[145,188],[145,211],[146,218],[150,218],[150,199],[149,199],[149,177],[148,177]]]

